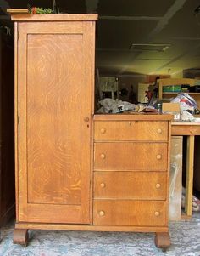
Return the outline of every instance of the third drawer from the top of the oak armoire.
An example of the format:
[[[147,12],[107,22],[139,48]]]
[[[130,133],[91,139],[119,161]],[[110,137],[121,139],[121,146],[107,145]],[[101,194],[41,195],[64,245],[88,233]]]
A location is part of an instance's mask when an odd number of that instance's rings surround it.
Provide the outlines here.
[[[94,198],[165,200],[166,172],[95,172]]]

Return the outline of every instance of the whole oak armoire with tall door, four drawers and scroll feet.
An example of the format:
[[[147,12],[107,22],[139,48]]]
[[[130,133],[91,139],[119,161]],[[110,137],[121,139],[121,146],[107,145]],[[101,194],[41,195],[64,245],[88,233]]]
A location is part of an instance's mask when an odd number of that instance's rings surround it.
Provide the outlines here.
[[[158,247],[169,247],[171,117],[94,115],[97,14],[12,20],[14,242],[25,245],[28,229],[151,231]]]

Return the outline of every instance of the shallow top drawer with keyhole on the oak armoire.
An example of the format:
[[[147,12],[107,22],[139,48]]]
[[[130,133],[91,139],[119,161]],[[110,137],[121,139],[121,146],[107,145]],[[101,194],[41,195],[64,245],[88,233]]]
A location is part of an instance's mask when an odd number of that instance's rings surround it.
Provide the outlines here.
[[[156,121],[95,121],[96,141],[142,140],[167,141],[168,122]]]

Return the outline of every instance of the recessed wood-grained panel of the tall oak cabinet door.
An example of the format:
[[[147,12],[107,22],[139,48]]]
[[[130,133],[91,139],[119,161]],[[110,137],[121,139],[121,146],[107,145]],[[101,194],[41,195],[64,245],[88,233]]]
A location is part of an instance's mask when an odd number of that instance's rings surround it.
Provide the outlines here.
[[[80,204],[82,36],[27,40],[28,201]]]

